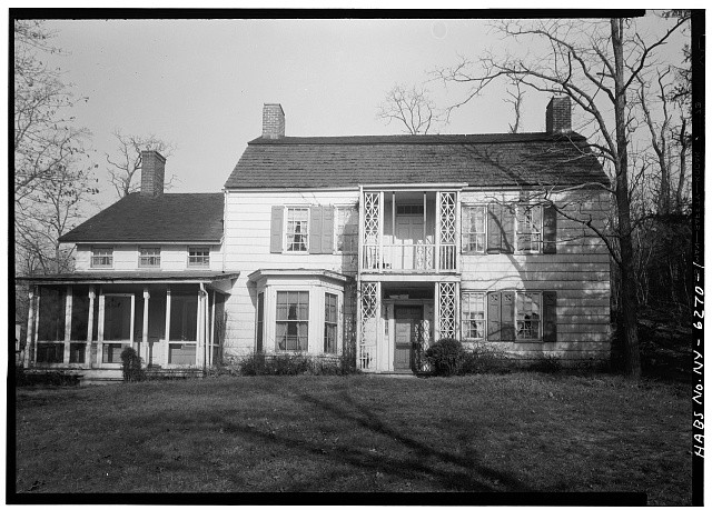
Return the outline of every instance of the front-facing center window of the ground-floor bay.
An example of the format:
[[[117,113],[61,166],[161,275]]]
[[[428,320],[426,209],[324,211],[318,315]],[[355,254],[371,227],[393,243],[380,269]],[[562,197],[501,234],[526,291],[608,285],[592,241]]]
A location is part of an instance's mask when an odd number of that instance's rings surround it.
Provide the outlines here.
[[[306,351],[309,338],[309,292],[277,292],[277,350]]]

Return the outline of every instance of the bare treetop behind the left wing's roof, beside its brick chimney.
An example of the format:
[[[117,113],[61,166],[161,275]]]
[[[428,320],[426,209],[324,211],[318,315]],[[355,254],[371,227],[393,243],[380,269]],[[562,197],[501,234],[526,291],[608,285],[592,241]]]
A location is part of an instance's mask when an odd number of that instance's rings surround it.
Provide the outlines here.
[[[123,134],[117,129],[113,131],[113,137],[117,140],[116,151],[113,154],[106,154],[106,158],[109,163],[109,180],[119,198],[139,189],[138,172],[142,164],[141,151],[155,150],[168,158],[175,150],[171,142],[161,140],[155,134]],[[176,177],[171,176],[166,181],[165,188],[170,189],[176,180]]]

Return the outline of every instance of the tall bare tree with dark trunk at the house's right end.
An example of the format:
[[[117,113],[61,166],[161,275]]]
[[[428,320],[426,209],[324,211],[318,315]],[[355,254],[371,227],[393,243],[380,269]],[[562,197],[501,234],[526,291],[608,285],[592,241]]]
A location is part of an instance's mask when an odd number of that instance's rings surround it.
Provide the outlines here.
[[[536,48],[527,44],[536,41],[545,50],[524,58],[488,52],[477,61],[463,60],[439,71],[445,82],[469,86],[465,99],[452,108],[468,102],[500,79],[516,79],[533,90],[567,96],[583,111],[583,128],[590,131],[591,140],[586,149],[612,173],[612,186],[606,191],[615,203],[615,230],[606,233],[592,222],[587,227],[606,243],[620,270],[624,371],[631,378],[640,377],[641,363],[629,162],[631,123],[636,112],[627,100],[639,77],[646,80],[655,68],[655,50],[688,20],[686,14],[670,20],[663,32],[651,40],[635,30],[635,21],[625,19],[494,22],[494,29],[505,38],[527,48]],[[583,23],[585,27],[581,27]]]

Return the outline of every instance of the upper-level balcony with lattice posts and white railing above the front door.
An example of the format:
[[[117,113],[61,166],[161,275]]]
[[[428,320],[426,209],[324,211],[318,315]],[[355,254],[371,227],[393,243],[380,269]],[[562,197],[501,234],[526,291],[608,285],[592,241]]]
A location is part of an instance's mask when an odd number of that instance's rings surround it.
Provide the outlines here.
[[[365,191],[362,203],[362,272],[457,271],[455,191]]]

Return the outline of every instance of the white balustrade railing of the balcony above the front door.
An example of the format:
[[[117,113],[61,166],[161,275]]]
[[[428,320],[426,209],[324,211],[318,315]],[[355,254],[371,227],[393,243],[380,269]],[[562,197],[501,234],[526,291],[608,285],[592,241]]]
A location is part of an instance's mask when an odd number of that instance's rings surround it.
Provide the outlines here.
[[[437,272],[457,269],[455,244],[363,246],[363,270],[374,272]],[[436,269],[437,268],[437,269]]]

